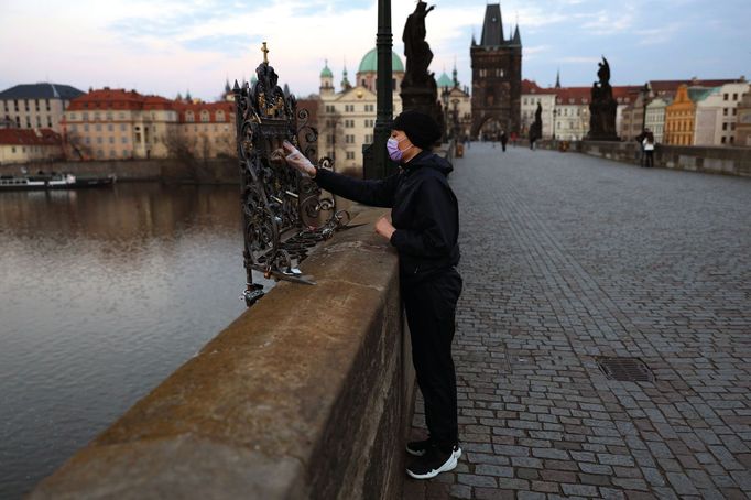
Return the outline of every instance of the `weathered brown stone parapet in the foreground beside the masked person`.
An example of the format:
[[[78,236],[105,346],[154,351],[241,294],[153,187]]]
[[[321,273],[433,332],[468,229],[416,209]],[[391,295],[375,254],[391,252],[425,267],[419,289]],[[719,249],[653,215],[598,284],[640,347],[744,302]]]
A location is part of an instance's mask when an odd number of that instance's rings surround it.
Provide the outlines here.
[[[30,498],[401,498],[414,373],[382,213],[304,262],[316,285],[277,284]]]

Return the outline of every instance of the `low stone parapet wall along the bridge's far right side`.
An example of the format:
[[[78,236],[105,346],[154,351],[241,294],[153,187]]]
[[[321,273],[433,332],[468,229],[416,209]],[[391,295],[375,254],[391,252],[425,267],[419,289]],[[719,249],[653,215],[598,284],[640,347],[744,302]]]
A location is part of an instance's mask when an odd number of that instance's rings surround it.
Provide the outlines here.
[[[538,146],[559,150],[562,141],[540,141]],[[568,151],[620,162],[640,164],[641,148],[631,142],[579,141],[568,143]],[[657,144],[654,165],[665,169],[751,176],[751,148],[711,148]]]

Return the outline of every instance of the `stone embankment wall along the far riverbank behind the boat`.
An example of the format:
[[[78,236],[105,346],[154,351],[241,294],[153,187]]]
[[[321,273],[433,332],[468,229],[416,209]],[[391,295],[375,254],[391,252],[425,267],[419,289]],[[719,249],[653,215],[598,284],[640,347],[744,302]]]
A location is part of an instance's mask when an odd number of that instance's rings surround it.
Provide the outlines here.
[[[77,177],[117,175],[118,182],[161,182],[166,184],[239,184],[236,159],[184,162],[178,160],[112,160],[90,162],[43,162],[0,165],[0,175],[69,172]]]

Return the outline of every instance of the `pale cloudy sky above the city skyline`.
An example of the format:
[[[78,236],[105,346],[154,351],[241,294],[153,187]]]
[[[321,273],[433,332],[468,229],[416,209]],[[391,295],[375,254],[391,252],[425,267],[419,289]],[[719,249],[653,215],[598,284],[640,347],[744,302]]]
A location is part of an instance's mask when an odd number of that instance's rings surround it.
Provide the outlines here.
[[[53,81],[81,90],[135,88],[215,99],[226,78],[249,78],[266,41],[282,83],[318,89],[326,58],[338,86],[375,46],[377,0],[0,0],[0,89]],[[436,77],[457,63],[471,83],[469,45],[486,1],[437,0],[427,18]],[[394,51],[414,0],[392,0]],[[608,57],[612,83],[751,77],[751,0],[507,0],[519,22],[522,73],[541,86],[589,86]]]

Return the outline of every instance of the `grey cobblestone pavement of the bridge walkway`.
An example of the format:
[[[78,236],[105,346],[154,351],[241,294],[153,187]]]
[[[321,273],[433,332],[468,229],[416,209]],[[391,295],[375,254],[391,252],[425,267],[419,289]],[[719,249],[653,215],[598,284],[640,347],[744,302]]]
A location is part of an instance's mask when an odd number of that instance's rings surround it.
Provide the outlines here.
[[[404,498],[749,498],[751,180],[475,143],[450,183],[464,455]]]

